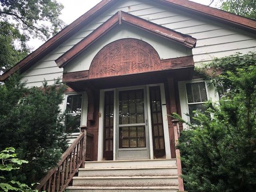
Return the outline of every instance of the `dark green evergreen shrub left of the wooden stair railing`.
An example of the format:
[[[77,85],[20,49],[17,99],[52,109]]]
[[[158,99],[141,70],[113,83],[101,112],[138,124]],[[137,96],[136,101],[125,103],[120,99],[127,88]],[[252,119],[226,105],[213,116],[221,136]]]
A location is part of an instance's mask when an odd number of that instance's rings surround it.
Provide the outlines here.
[[[59,105],[66,86],[59,80],[42,88],[24,87],[13,75],[0,86],[0,149],[13,146],[18,158],[29,161],[6,178],[34,183],[56,165],[67,148],[64,115]]]

